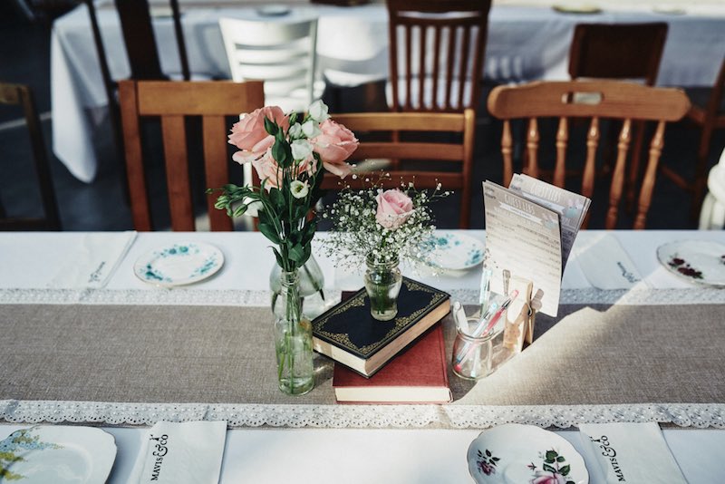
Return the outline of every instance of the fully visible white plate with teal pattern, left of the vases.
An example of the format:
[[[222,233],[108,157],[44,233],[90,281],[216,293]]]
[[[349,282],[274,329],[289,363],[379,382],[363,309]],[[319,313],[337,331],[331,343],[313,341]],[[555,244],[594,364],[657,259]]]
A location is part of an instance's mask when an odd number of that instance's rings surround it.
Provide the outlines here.
[[[160,247],[141,256],[133,272],[154,286],[184,286],[213,276],[224,264],[221,250],[204,242]]]

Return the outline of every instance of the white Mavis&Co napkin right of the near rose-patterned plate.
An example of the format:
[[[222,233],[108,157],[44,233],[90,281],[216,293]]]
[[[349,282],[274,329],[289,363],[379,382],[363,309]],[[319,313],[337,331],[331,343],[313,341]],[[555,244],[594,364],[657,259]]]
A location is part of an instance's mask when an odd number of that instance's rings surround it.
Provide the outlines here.
[[[687,484],[654,422],[581,424],[579,431],[590,484]]]

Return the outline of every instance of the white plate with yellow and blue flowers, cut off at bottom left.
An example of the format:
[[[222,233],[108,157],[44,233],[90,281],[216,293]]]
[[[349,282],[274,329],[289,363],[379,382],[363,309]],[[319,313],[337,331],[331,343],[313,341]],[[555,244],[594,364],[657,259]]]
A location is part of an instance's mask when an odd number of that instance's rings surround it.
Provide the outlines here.
[[[101,429],[38,425],[1,441],[0,455],[5,452],[11,458],[0,460],[0,483],[103,484],[116,459],[116,443]]]

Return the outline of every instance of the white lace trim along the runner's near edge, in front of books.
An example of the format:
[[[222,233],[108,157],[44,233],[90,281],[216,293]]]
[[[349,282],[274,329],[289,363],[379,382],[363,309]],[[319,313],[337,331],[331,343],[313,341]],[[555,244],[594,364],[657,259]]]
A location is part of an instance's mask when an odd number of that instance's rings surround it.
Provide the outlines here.
[[[157,421],[227,421],[229,427],[481,429],[502,423],[575,427],[580,423],[658,422],[725,429],[723,403],[623,405],[284,405],[0,401],[0,420],[153,425]]]

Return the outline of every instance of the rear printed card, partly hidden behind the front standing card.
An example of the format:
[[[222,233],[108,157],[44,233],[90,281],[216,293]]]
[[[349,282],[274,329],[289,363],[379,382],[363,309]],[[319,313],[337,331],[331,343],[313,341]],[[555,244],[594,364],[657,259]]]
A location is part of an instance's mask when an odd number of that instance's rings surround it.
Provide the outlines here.
[[[515,174],[508,185],[518,195],[531,200],[542,207],[554,210],[559,214],[561,228],[561,266],[564,270],[569,258],[576,234],[582,226],[586,212],[592,200],[573,191],[555,187],[546,181]]]

